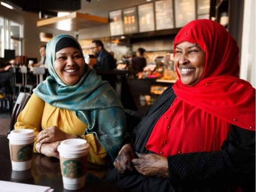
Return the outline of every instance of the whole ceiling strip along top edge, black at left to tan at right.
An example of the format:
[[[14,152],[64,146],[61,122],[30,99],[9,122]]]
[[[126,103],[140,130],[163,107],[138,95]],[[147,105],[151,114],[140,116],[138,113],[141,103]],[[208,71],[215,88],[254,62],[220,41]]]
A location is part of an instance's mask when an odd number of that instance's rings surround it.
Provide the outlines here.
[[[100,17],[109,17],[109,11],[122,9],[124,7],[138,6],[149,0],[0,0],[15,6],[20,11],[34,12],[51,11],[74,12],[91,14]],[[157,0],[151,0],[154,2]]]

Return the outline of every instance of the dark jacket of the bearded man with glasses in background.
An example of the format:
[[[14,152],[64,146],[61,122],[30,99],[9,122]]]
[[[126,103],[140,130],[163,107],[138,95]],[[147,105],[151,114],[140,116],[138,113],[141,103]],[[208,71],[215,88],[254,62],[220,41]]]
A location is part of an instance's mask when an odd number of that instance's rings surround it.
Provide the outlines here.
[[[107,52],[107,50],[103,49],[101,54],[97,58],[94,69],[113,70],[115,68],[116,62],[114,60],[114,57],[109,52]]]

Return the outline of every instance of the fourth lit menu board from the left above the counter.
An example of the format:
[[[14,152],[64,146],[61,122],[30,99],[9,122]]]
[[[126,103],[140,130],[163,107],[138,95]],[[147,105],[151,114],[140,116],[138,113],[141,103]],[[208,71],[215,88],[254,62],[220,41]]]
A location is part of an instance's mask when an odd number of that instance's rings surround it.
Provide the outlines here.
[[[155,27],[157,30],[174,28],[172,0],[155,2]]]

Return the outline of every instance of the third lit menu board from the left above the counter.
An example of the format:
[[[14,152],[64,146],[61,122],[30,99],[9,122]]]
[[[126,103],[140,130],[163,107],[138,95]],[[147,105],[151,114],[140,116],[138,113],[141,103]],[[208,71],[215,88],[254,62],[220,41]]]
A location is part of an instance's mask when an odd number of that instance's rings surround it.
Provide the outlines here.
[[[140,32],[154,31],[154,4],[152,2],[138,6]]]

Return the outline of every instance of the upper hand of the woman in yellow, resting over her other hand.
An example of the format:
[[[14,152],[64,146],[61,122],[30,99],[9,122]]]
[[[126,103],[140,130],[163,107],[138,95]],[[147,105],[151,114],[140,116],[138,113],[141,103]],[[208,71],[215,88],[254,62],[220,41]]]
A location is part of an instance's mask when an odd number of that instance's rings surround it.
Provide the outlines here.
[[[42,130],[37,135],[37,142],[40,143],[53,143],[58,141],[63,141],[69,138],[76,138],[76,135],[69,135],[62,132],[58,127],[53,126]]]

